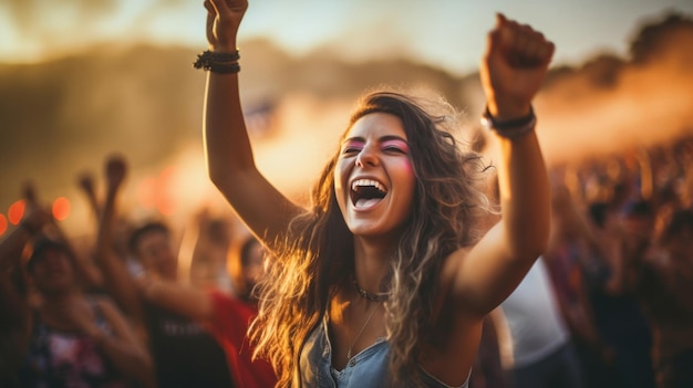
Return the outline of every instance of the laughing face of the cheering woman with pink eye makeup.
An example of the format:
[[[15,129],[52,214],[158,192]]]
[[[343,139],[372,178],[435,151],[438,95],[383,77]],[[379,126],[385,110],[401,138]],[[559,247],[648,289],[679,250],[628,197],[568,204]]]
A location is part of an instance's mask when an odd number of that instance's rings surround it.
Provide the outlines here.
[[[359,118],[340,148],[334,191],[355,235],[395,232],[410,217],[414,167],[402,120],[386,113]]]

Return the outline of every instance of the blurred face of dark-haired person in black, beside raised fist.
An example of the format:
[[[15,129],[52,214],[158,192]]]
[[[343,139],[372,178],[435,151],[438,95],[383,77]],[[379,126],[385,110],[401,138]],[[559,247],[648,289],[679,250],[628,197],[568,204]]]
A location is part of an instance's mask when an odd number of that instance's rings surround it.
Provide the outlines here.
[[[139,238],[135,254],[147,272],[165,280],[176,280],[178,260],[168,233],[158,230],[146,232]]]

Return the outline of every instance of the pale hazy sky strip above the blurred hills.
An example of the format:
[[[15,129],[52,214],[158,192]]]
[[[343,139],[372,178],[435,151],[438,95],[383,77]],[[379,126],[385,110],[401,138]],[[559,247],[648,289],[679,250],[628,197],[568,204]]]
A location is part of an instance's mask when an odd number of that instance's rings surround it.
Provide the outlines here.
[[[627,54],[640,23],[693,0],[250,0],[242,41],[268,38],[298,56],[329,46],[360,61],[403,55],[464,74],[477,69],[495,12],[557,45],[555,64]],[[0,63],[38,62],[93,45],[206,49],[201,0],[0,0]]]

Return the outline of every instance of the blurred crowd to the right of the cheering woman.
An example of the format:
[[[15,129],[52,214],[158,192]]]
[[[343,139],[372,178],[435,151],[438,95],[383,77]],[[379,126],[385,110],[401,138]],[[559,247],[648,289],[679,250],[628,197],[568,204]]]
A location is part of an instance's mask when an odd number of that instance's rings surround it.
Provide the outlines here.
[[[472,386],[693,387],[692,160],[682,137],[551,167],[549,248],[489,316]]]

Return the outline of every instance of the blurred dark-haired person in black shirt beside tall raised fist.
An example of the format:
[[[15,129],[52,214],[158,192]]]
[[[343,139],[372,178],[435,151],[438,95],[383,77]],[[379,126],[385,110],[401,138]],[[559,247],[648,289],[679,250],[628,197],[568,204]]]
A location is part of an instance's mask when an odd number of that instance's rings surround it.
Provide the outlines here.
[[[114,244],[115,200],[127,166],[120,156],[105,164],[107,190],[102,209],[95,256],[106,290],[144,332],[161,388],[232,387],[224,349],[196,322],[148,300],[141,287],[145,279],[177,281],[177,258],[172,235],[163,222],[147,222],[130,237],[130,249],[145,270],[135,279]]]

